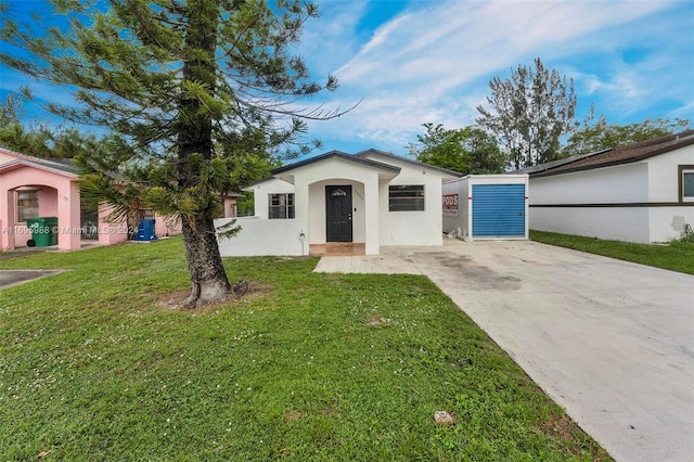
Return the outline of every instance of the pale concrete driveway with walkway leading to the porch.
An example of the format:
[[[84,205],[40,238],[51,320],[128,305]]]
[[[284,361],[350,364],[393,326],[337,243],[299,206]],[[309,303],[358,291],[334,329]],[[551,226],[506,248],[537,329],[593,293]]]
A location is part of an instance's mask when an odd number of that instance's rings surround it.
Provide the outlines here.
[[[321,272],[422,273],[618,461],[694,460],[694,277],[527,241],[385,247]]]

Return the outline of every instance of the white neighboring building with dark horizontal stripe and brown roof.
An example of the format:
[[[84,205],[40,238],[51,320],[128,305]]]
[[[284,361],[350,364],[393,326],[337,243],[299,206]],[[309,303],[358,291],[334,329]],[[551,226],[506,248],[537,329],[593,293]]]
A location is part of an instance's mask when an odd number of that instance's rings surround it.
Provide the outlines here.
[[[530,229],[653,243],[694,227],[694,130],[522,171]]]

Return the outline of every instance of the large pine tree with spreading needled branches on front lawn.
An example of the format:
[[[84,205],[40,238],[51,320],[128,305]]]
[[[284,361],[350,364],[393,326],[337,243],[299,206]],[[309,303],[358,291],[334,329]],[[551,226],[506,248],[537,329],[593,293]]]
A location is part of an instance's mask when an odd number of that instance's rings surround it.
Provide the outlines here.
[[[73,93],[74,105],[47,105],[53,114],[119,134],[107,156],[79,157],[91,170],[82,183],[104,198],[117,192],[113,171],[140,185],[147,206],[181,219],[192,281],[183,305],[226,299],[231,286],[213,219],[245,152],[232,147],[261,139],[272,150],[290,142],[308,150],[305,119],[337,115],[297,107],[336,88],[332,77],[324,85],[310,80],[303,60],[290,53],[317,7],[300,0],[52,2],[66,27],[46,27],[56,20],[40,13],[34,24],[20,24],[2,8],[1,37],[11,47],[0,60]]]

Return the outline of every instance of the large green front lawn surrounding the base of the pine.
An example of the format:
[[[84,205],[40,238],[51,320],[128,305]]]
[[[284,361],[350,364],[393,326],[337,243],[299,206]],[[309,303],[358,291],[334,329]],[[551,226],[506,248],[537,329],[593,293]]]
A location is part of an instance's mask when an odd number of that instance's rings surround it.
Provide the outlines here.
[[[316,262],[171,311],[178,239],[0,261],[70,269],[0,291],[0,460],[609,459],[426,278]]]

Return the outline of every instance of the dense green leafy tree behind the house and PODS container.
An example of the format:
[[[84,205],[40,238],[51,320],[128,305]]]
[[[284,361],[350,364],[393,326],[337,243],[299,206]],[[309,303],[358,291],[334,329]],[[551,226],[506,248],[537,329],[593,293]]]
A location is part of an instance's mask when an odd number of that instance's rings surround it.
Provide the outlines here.
[[[500,174],[506,158],[497,141],[477,127],[445,129],[444,125],[423,124],[426,133],[408,145],[419,162],[436,165],[463,175]]]

